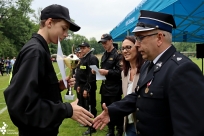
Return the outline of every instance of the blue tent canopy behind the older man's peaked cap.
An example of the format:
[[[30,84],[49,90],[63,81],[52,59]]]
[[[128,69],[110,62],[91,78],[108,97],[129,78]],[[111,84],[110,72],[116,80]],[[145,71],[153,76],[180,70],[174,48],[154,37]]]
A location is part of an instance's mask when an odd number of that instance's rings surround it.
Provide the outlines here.
[[[115,42],[132,35],[140,10],[172,14],[177,28],[173,42],[204,42],[204,0],[142,0],[111,32]]]

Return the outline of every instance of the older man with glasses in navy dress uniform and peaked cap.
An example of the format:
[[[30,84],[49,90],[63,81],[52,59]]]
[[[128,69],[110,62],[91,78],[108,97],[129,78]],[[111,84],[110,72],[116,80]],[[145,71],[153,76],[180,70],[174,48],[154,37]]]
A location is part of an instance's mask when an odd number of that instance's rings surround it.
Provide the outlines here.
[[[204,135],[204,77],[171,44],[172,28],[176,28],[172,15],[141,11],[133,32],[147,61],[135,93],[108,107],[104,104],[95,128],[135,111],[138,136]]]

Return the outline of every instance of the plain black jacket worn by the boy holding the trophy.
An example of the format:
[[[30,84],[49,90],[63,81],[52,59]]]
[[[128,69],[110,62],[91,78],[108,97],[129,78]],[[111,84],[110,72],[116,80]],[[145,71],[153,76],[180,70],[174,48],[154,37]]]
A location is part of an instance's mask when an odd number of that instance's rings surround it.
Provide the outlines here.
[[[47,42],[35,34],[21,49],[10,85],[4,92],[12,122],[23,136],[56,136],[65,118],[73,114],[62,103],[61,90]]]

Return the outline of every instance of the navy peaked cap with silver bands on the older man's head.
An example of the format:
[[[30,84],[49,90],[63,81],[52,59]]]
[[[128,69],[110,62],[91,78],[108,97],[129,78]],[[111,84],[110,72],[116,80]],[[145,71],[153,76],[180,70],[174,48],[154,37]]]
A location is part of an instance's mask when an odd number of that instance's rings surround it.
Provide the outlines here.
[[[172,28],[176,28],[174,18],[170,14],[141,10],[138,23],[132,31],[142,32],[160,29],[172,33]]]

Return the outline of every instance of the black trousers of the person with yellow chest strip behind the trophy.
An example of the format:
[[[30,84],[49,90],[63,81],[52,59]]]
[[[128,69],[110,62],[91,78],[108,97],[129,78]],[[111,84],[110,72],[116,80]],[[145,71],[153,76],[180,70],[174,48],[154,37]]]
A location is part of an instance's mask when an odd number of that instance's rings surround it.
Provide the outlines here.
[[[90,82],[91,89],[88,91],[88,97],[83,97],[84,85],[80,85],[80,93],[79,93],[79,104],[83,108],[89,111],[89,105],[91,106],[91,113],[96,117],[97,109],[96,109],[96,82]]]

